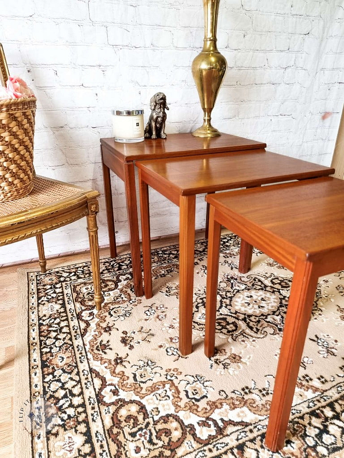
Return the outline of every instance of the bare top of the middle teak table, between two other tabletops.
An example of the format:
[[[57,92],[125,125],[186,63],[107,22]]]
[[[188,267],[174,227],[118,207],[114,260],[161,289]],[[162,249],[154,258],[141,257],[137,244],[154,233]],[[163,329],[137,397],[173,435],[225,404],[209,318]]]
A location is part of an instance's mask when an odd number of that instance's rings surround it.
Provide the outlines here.
[[[302,180],[327,176],[335,171],[263,149],[156,159],[135,164],[142,170],[145,180],[150,177],[155,184],[159,183],[180,195]]]

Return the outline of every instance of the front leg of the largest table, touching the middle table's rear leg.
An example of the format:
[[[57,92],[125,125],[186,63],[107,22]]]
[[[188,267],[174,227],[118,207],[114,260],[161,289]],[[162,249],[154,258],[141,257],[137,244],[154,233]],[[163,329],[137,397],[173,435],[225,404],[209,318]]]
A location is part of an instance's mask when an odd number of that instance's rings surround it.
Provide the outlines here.
[[[134,163],[125,164],[125,198],[127,202],[130,251],[133,269],[134,291],[136,296],[143,296],[141,250],[139,236],[138,209],[136,201]]]

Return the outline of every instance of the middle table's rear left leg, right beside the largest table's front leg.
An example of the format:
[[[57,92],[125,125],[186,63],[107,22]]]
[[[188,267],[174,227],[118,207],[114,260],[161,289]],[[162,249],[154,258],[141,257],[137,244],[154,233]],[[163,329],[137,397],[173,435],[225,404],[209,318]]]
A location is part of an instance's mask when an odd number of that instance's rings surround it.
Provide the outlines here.
[[[141,206],[144,296],[146,299],[150,299],[152,297],[152,262],[150,250],[149,196],[148,185],[144,183],[141,178],[141,170],[139,170],[139,187]]]

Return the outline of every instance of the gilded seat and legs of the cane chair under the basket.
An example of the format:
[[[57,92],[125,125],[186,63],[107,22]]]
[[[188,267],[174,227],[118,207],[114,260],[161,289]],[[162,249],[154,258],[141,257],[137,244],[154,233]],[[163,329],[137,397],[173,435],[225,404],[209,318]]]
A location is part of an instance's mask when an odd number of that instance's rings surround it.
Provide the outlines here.
[[[97,310],[102,303],[96,221],[99,195],[98,191],[36,176],[28,196],[0,203],[0,246],[36,236],[42,272],[47,265],[42,234],[86,216]]]

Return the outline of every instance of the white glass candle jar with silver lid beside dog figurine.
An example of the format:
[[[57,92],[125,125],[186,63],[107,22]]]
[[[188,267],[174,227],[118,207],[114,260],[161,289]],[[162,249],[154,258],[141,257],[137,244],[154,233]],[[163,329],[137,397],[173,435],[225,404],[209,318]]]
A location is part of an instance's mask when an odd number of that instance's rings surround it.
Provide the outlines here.
[[[143,110],[113,110],[114,139],[121,143],[144,140]]]

